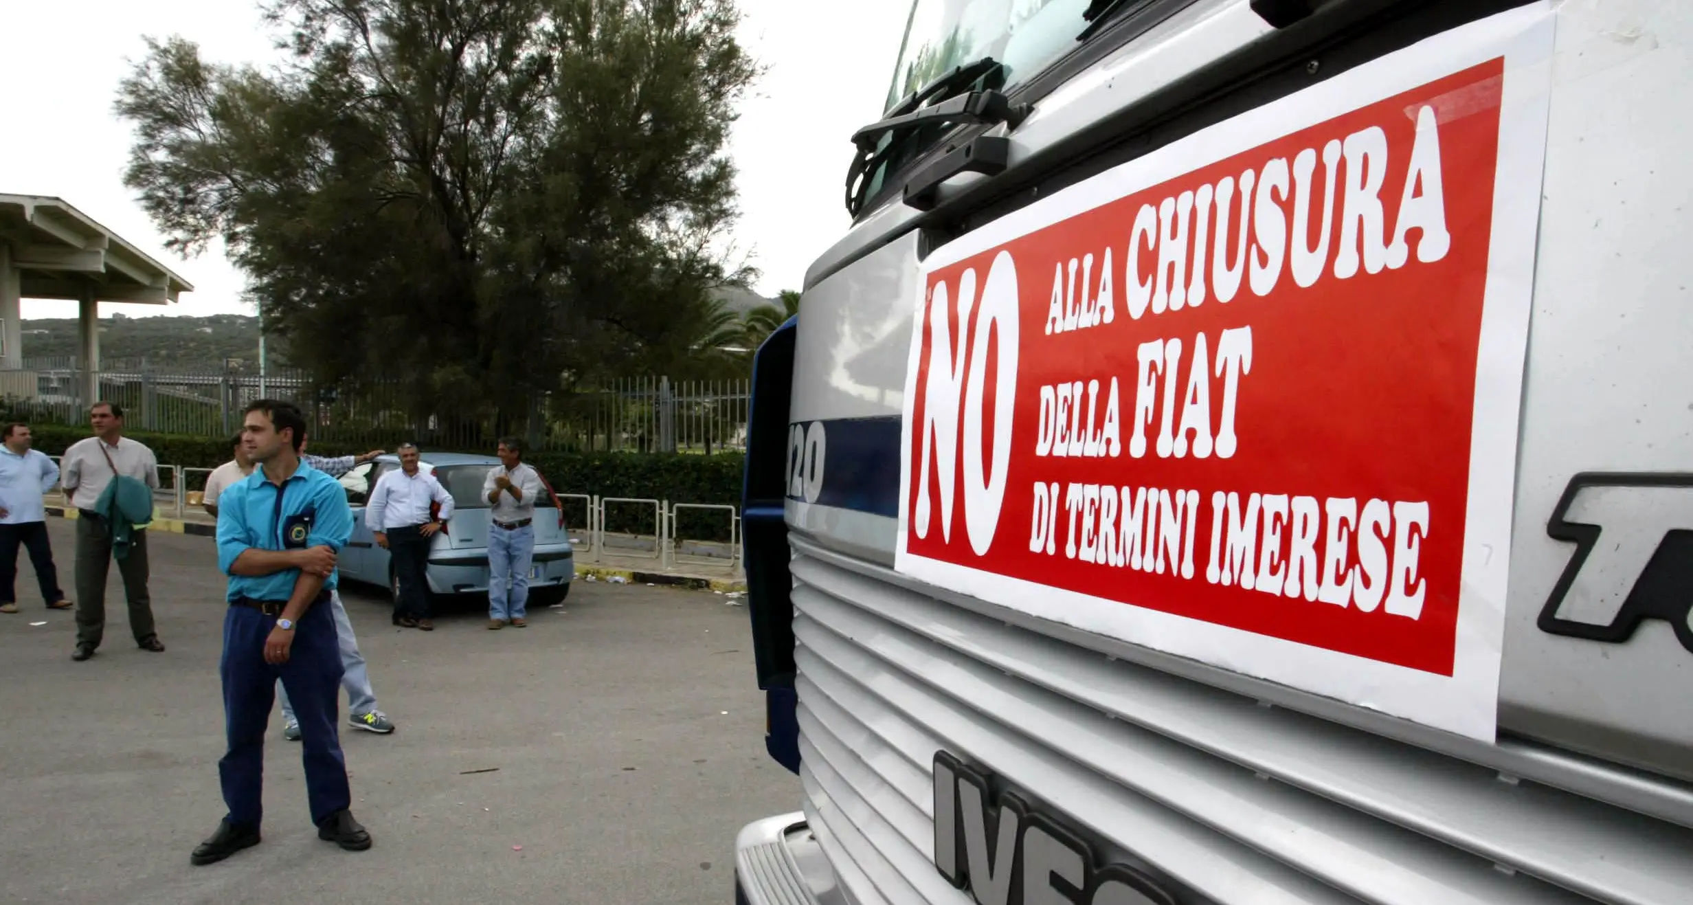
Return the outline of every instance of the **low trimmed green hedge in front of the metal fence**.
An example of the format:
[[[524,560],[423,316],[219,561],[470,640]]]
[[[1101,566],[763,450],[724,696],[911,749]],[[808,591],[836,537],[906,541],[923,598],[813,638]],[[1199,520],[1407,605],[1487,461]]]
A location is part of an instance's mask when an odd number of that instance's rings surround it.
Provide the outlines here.
[[[63,454],[73,442],[88,437],[83,427],[52,424],[30,425],[36,449],[49,456]],[[125,437],[152,447],[161,464],[185,468],[217,468],[229,461],[227,437],[190,437],[181,434],[132,432]],[[347,456],[366,452],[367,446],[347,442],[312,442],[318,456]],[[489,451],[477,451],[489,452]],[[664,454],[664,452],[533,452],[530,464],[540,469],[557,493],[589,493],[596,497],[630,497],[669,500],[672,503],[730,503],[740,505],[742,463],[738,452],[714,456]],[[159,478],[169,486],[171,475]],[[203,485],[203,476],[188,481],[190,490]],[[581,503],[565,502],[565,519],[581,527]],[[689,512],[677,515],[677,536],[684,539],[728,539],[726,512]],[[613,505],[606,512],[606,530],[647,534],[652,530],[650,510],[635,503]]]

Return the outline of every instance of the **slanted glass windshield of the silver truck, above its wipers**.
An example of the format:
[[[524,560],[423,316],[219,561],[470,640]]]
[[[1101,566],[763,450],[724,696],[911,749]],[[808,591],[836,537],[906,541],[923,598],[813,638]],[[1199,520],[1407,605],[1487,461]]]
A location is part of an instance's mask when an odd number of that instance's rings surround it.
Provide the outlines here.
[[[984,56],[1006,64],[1006,88],[1028,80],[1075,47],[1087,7],[1089,0],[916,0],[882,110]]]

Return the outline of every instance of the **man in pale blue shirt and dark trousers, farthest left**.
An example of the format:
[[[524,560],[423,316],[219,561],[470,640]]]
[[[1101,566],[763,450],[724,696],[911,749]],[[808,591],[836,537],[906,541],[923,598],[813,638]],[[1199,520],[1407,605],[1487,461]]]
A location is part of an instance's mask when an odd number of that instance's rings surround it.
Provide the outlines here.
[[[17,547],[29,549],[36,566],[36,583],[49,610],[68,610],[71,602],[59,590],[59,573],[52,566],[52,544],[47,541],[47,510],[41,495],[59,483],[59,466],[34,442],[29,425],[5,425],[0,446],[0,614],[17,612]]]

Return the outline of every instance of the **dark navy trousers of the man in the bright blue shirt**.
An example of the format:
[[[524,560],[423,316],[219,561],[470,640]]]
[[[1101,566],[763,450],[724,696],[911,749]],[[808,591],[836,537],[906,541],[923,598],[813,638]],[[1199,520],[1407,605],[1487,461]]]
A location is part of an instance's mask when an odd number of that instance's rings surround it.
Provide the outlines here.
[[[223,615],[223,720],[229,752],[218,761],[229,822],[259,827],[264,817],[264,729],[281,680],[300,719],[300,758],[306,771],[312,822],[352,803],[347,761],[340,752],[335,713],[340,690],[340,644],[327,602],[313,603],[295,627],[288,663],[264,663],[264,639],[276,617],[251,607],[230,607]]]

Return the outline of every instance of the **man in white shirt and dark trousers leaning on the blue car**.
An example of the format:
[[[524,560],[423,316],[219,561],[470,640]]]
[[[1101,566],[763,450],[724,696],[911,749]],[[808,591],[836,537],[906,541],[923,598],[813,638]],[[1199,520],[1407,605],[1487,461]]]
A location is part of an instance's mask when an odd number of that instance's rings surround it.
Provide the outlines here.
[[[440,503],[432,514],[430,505]],[[400,471],[388,471],[371,490],[364,524],[376,534],[376,546],[394,558],[400,597],[394,600],[394,625],[435,630],[428,619],[428,546],[430,539],[452,519],[452,495],[435,475],[418,468],[418,447],[400,444]]]

